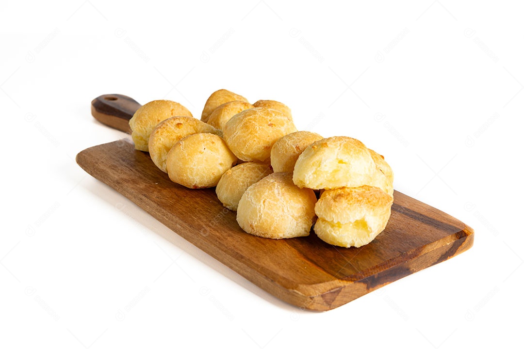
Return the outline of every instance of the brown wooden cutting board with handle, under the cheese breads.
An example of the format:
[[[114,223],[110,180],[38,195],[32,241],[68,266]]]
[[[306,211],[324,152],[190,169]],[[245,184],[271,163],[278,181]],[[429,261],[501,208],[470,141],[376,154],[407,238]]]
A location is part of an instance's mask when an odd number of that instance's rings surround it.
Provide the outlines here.
[[[140,106],[122,95],[93,100],[92,114],[129,131]],[[386,229],[371,243],[345,249],[316,237],[271,240],[245,233],[214,188],[188,189],[169,180],[128,139],[80,152],[77,163],[216,260],[297,307],[330,310],[470,249],[473,229],[399,192]]]

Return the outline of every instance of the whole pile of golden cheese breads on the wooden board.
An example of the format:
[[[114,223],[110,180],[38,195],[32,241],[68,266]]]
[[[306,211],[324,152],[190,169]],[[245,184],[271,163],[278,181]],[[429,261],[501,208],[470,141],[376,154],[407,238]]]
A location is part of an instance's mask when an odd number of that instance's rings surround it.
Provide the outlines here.
[[[171,181],[216,186],[247,233],[282,239],[314,232],[359,247],[384,230],[393,172],[384,157],[350,137],[297,131],[291,110],[226,89],[211,94],[201,119],[171,100],[141,106],[129,121],[137,150]]]

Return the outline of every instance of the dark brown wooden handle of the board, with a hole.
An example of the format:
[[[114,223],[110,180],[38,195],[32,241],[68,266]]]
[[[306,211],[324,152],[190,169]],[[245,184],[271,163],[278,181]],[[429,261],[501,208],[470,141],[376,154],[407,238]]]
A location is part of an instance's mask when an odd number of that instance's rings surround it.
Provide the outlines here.
[[[131,133],[129,119],[142,105],[131,97],[124,95],[102,95],[91,102],[91,114],[104,125]]]

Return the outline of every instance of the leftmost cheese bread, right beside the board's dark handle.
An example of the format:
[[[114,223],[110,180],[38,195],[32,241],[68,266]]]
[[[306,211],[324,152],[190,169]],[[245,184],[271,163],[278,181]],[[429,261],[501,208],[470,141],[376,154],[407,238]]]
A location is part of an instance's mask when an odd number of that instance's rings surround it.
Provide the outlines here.
[[[149,151],[148,142],[151,131],[160,121],[173,116],[193,117],[188,108],[172,100],[152,100],[138,108],[129,120],[129,127],[132,131],[131,137],[133,138],[133,142],[135,142],[135,149]]]

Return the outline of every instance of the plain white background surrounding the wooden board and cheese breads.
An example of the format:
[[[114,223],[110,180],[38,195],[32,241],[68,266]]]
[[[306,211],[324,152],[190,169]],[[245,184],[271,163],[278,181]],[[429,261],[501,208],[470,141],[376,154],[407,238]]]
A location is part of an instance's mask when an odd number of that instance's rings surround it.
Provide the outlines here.
[[[172,3],[0,3],[0,347],[521,343],[518,2]],[[219,88],[286,103],[299,129],[362,140],[397,190],[473,227],[473,248],[301,311],[75,163],[125,137],[92,118],[94,97],[167,98],[199,117]]]

